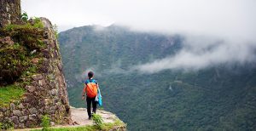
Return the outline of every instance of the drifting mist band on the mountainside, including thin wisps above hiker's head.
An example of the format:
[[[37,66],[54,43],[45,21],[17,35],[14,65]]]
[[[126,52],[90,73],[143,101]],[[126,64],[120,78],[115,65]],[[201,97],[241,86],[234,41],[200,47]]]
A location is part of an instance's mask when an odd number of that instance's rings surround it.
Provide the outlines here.
[[[172,71],[199,71],[209,67],[225,65],[247,65],[256,62],[256,44],[242,41],[227,41],[216,37],[185,36],[183,48],[163,59],[150,60],[150,62],[139,62],[122,68],[122,61],[116,61],[109,65],[108,69],[99,70],[94,65],[88,71],[96,71],[99,76],[104,74],[152,74],[164,70]],[[118,57],[118,56],[116,56]],[[149,55],[145,56],[149,57]]]

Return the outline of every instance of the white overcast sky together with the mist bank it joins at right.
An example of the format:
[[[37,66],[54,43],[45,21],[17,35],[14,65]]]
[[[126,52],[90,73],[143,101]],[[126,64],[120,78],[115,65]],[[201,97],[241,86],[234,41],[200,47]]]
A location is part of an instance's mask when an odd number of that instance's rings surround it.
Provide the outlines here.
[[[197,37],[189,37],[185,48],[175,57],[138,66],[142,71],[159,71],[163,64],[163,70],[203,68],[212,63],[255,59],[256,0],[21,0],[21,9],[29,16],[47,17],[59,31],[115,23],[138,31]],[[224,43],[211,52],[202,52],[214,42],[202,40],[201,36],[216,37]]]

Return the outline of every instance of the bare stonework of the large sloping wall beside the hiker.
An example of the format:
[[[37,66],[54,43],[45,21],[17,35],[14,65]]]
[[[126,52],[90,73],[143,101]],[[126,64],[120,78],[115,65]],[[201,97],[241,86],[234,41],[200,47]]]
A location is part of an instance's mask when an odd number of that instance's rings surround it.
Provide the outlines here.
[[[0,107],[0,122],[5,125],[14,125],[14,128],[38,127],[45,114],[49,115],[51,122],[56,124],[71,121],[55,31],[49,20],[40,19],[44,24],[42,33],[46,48],[38,50],[43,58],[40,58],[40,61],[32,60],[32,63],[41,62],[42,65],[38,67],[37,73],[29,77],[32,83],[26,84],[26,93],[22,99]]]

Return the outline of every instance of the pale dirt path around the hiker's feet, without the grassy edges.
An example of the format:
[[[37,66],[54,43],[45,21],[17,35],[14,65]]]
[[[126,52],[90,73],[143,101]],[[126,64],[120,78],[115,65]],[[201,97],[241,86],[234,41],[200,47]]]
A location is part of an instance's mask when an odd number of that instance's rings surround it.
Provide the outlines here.
[[[103,110],[97,110],[96,114],[102,116],[103,122],[114,122],[116,117],[113,113]],[[87,111],[85,108],[71,108],[71,117],[73,120],[73,125],[55,125],[52,128],[60,128],[60,127],[79,127],[84,125],[92,125],[92,120],[88,119]],[[40,128],[24,128],[24,129],[15,129],[15,131],[29,131],[32,129],[40,129]]]

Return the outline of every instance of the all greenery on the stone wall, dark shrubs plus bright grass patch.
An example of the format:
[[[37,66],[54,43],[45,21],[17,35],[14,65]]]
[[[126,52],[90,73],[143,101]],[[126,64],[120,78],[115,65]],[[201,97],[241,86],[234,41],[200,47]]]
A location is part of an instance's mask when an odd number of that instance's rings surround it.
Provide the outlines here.
[[[32,62],[32,59],[40,59],[44,55],[40,53],[46,48],[42,42],[43,23],[38,18],[31,21],[0,29],[0,106],[22,99],[24,87],[31,83],[30,76],[37,73],[42,65]]]

